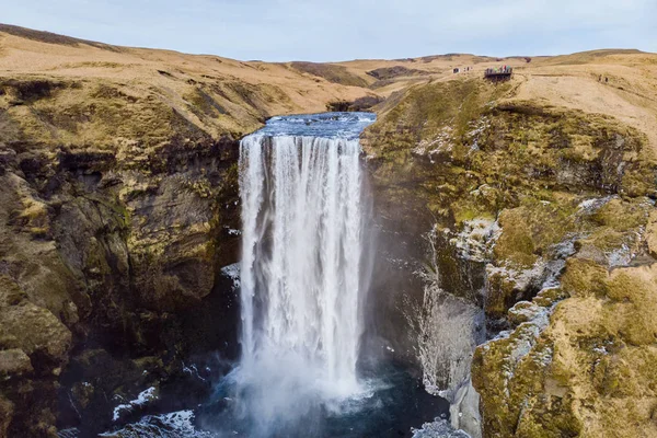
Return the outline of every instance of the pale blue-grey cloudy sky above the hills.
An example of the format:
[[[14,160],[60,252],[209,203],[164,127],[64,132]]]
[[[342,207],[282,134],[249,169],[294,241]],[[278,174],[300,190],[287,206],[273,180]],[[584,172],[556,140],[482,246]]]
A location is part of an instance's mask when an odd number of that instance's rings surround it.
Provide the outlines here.
[[[657,0],[0,0],[0,22],[242,60],[657,51]]]

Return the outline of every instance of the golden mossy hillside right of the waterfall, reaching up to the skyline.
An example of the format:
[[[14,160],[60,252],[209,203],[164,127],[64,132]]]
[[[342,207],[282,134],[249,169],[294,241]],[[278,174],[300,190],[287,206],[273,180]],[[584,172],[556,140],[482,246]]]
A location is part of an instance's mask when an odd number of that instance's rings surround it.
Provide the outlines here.
[[[427,262],[487,316],[472,365],[485,437],[657,434],[656,60],[544,58],[499,84],[477,65],[436,73],[364,135],[380,217],[485,254],[483,297],[452,253]]]

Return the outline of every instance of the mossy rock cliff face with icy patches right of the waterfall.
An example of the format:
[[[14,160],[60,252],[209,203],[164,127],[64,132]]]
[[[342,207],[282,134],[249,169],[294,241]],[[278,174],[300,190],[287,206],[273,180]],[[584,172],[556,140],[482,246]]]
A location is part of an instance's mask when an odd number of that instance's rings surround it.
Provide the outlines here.
[[[433,237],[406,269],[423,291],[393,300],[411,310],[425,385],[473,436],[654,435],[654,146],[514,95],[416,87],[365,136],[380,216]]]

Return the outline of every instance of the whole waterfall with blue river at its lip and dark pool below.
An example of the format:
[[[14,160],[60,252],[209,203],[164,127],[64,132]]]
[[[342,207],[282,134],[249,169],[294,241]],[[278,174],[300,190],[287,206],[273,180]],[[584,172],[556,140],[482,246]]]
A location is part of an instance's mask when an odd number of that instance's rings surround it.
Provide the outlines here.
[[[417,372],[361,351],[376,239],[358,136],[374,119],[274,117],[242,140],[241,358],[211,400],[161,400],[104,436],[410,437],[447,417]]]

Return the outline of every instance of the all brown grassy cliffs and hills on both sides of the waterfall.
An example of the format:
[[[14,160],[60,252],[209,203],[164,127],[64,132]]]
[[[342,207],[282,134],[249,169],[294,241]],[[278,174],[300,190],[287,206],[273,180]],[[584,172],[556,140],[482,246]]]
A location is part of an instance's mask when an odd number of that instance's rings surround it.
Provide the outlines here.
[[[500,62],[514,79],[485,82]],[[184,369],[238,349],[239,139],[357,102],[379,114],[372,327],[457,425],[655,434],[656,70],[618,50],[242,62],[0,25],[0,436],[209,391]]]

